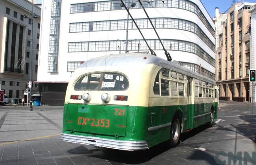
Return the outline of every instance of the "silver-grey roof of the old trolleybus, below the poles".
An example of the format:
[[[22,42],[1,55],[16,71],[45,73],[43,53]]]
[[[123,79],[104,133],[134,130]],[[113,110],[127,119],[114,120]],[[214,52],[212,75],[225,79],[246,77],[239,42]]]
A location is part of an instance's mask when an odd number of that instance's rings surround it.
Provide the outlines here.
[[[147,57],[147,60],[142,60],[145,57]],[[198,74],[196,72],[193,72],[191,70],[188,70],[180,65],[178,65],[177,62],[174,61],[167,61],[163,58],[153,56],[148,53],[126,53],[126,54],[110,54],[107,56],[100,56],[95,57],[92,59],[89,59],[88,61],[85,61],[82,65],[80,65],[79,68],[85,68],[85,67],[104,67],[104,66],[124,66],[129,65],[131,67],[135,67],[136,65],[160,65],[161,63],[167,65],[168,67],[165,67],[167,69],[171,69],[173,71],[179,72],[181,74],[197,78],[199,80],[203,80],[209,83],[216,84],[214,80],[203,76],[201,74]]]

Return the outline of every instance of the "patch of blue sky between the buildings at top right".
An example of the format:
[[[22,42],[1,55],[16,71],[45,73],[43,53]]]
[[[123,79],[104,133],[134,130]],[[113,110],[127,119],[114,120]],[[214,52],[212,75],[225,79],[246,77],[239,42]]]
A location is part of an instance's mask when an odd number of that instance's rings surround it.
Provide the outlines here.
[[[219,7],[219,12],[226,12],[234,2],[240,3],[240,0],[201,0],[211,18],[215,16],[215,7]],[[256,0],[242,0],[242,2],[256,3]]]

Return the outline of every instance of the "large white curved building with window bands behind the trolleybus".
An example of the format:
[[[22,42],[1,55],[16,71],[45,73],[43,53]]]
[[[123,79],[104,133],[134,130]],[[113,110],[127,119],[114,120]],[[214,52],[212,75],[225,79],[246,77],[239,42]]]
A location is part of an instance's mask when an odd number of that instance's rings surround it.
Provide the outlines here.
[[[166,59],[137,0],[124,0],[151,49]],[[62,102],[74,69],[87,59],[125,52],[127,12],[120,0],[45,0],[42,4],[38,82],[42,101]],[[200,0],[148,0],[143,6],[165,49],[187,69],[215,80],[215,25]],[[122,41],[120,41],[122,40]],[[148,51],[132,20],[128,51]],[[61,83],[56,88],[56,83]],[[54,95],[52,95],[54,93]],[[45,100],[44,100],[45,99]],[[55,101],[54,101],[55,100]]]

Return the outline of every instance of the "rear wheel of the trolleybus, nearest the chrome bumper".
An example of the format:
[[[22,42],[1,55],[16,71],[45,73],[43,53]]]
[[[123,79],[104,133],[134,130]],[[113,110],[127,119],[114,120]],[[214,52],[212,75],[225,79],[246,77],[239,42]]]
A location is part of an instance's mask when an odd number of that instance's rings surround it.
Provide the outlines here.
[[[170,145],[171,147],[175,147],[180,142],[180,120],[175,118],[171,125],[171,139]]]

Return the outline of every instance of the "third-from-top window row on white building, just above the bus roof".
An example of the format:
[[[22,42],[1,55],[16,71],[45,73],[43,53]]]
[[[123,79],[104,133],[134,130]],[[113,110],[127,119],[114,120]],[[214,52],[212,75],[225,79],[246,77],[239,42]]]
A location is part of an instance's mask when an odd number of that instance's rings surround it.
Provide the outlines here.
[[[147,40],[152,50],[162,50],[162,46],[158,39]],[[215,67],[215,59],[206,53],[200,46],[195,43],[179,40],[162,40],[167,50],[177,50],[196,54]],[[128,43],[128,50],[137,51],[148,50],[144,40],[135,40]],[[125,50],[125,43],[122,41],[92,41],[92,42],[72,42],[69,43],[69,52],[98,52],[98,51],[119,51]]]

